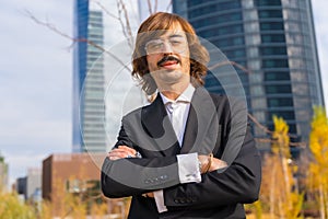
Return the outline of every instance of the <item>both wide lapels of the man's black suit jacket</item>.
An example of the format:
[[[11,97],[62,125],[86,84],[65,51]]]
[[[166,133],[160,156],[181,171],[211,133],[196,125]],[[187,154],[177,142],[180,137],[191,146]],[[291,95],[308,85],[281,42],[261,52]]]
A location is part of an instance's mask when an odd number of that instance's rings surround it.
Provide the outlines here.
[[[204,88],[196,89],[191,99],[181,148],[160,95],[142,108],[141,122],[145,132],[154,140],[153,150],[164,157],[191,152],[209,154],[220,135],[216,106]]]

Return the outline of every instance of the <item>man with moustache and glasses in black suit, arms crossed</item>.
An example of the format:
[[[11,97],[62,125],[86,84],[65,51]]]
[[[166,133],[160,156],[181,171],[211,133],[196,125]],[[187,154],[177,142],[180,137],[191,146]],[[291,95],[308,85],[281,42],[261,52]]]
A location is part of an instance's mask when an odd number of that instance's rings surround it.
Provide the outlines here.
[[[102,168],[105,196],[132,196],[128,218],[245,218],[243,204],[258,198],[246,107],[201,87],[208,61],[184,19],[159,12],[141,24],[132,76],[159,93],[124,116]]]

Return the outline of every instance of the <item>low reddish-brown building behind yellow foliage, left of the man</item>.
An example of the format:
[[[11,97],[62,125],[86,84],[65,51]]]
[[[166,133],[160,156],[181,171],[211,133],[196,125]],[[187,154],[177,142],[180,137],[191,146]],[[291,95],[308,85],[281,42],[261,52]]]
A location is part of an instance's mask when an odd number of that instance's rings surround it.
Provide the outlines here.
[[[81,206],[85,205],[87,211],[102,203],[107,203],[108,214],[121,211],[121,199],[105,198],[101,192],[105,157],[106,153],[57,153],[43,161],[42,194],[51,203],[54,216],[66,215],[74,198]]]

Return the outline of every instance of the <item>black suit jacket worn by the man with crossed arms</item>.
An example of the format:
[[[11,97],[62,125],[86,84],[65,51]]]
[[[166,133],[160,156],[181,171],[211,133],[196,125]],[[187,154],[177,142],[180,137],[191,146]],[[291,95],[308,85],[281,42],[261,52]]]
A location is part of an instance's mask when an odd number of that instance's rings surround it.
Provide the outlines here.
[[[132,196],[129,218],[245,218],[243,204],[258,198],[260,155],[247,125],[245,105],[196,89],[180,147],[160,95],[122,118],[118,141],[142,159],[105,159],[102,189],[110,198]],[[180,184],[176,154],[198,152],[223,159],[225,170],[202,174],[201,183]],[[168,211],[159,214],[153,198],[163,189]]]

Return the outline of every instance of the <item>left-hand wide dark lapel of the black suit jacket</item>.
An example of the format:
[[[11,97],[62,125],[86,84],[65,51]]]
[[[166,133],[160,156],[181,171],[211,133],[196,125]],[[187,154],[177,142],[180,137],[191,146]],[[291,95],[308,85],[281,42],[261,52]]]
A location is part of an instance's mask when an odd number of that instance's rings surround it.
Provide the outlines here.
[[[161,95],[157,95],[152,104],[142,108],[141,122],[144,130],[153,138],[156,152],[161,152],[164,157],[179,152],[180,147]]]

